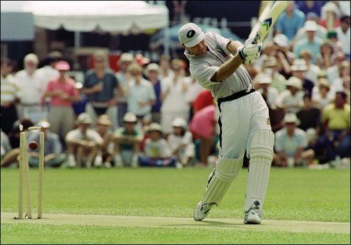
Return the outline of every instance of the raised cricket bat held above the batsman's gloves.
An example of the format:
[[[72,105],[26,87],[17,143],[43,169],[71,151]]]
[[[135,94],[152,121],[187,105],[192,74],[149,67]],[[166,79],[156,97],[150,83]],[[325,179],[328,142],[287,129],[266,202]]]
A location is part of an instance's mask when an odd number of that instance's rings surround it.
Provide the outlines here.
[[[262,43],[265,40],[270,28],[276,23],[279,15],[287,8],[289,1],[276,1],[272,6],[268,4],[263,10],[249,38],[254,37],[252,43]],[[271,6],[271,8],[269,8]]]

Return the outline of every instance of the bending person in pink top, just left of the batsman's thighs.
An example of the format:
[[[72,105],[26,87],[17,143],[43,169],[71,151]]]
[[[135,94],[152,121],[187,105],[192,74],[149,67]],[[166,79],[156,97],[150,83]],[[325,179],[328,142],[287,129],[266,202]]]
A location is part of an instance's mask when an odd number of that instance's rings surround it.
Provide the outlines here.
[[[215,105],[206,106],[194,114],[189,124],[189,130],[194,138],[199,139],[200,166],[208,165],[208,156],[215,145],[215,135],[219,134],[216,127],[219,119],[219,109]]]

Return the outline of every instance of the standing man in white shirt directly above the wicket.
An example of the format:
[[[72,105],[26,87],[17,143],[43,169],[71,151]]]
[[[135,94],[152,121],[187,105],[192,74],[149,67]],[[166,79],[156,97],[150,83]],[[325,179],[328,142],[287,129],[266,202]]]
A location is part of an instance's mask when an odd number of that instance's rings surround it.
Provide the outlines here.
[[[20,89],[17,113],[20,118],[29,117],[36,124],[43,117],[42,100],[45,93],[42,80],[36,72],[38,57],[35,54],[27,54],[24,67],[25,69],[15,75]]]

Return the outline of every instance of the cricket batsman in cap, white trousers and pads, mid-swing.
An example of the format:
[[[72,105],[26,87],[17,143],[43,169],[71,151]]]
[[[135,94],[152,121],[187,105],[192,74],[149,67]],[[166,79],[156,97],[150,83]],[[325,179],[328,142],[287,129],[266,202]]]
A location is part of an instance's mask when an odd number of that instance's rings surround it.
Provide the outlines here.
[[[261,224],[274,133],[265,100],[253,89],[250,75],[242,64],[251,64],[260,56],[262,43],[252,44],[253,40],[248,39],[243,45],[212,32],[205,34],[194,23],[182,25],[178,38],[189,59],[192,77],[211,91],[221,112],[219,159],[193,217],[204,220],[213,205],[219,205],[241,172],[246,150],[250,166],[244,223]]]

